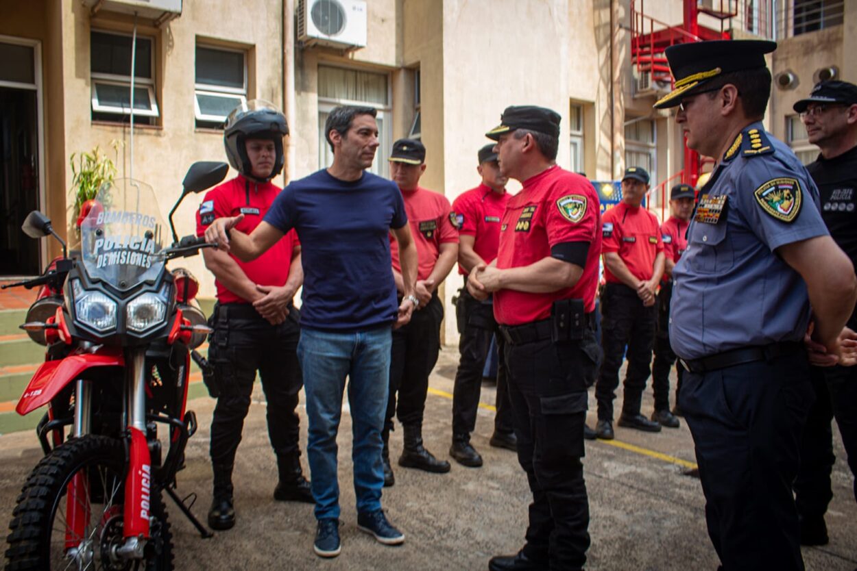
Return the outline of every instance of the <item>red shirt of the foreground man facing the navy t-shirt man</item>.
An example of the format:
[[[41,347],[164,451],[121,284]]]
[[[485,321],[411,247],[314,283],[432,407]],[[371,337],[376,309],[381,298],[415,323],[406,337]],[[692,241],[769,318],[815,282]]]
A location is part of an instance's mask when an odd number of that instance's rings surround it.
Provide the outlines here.
[[[584,300],[595,309],[598,256],[601,254],[601,207],[590,181],[554,165],[524,181],[509,198],[500,226],[497,267],[531,265],[550,256],[551,247],[566,242],[589,242],[584,273],[572,288],[549,294],[513,289],[494,292],[494,318],[504,325],[527,324],[550,317],[555,300]]]

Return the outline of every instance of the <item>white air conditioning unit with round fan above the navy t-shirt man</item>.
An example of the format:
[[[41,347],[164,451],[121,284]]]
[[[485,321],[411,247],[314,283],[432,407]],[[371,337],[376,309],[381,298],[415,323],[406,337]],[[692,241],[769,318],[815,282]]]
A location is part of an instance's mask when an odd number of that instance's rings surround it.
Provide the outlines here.
[[[366,0],[298,0],[297,40],[350,50],[366,46]]]

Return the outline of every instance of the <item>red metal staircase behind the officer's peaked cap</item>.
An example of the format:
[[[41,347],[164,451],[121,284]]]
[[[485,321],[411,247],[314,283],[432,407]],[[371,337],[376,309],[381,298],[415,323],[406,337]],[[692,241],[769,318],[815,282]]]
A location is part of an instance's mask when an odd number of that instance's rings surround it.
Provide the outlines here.
[[[662,2],[663,0],[655,0]],[[720,21],[720,29],[700,26],[700,14]],[[631,61],[643,85],[673,85],[664,51],[670,45],[700,42],[709,39],[729,39],[731,19],[738,15],[738,0],[683,0],[684,20],[670,25],[644,13],[644,0],[631,0]],[[685,143],[685,168],[681,180],[696,186],[699,178],[699,155]],[[678,175],[678,174],[677,174]],[[677,175],[668,180],[674,180]]]

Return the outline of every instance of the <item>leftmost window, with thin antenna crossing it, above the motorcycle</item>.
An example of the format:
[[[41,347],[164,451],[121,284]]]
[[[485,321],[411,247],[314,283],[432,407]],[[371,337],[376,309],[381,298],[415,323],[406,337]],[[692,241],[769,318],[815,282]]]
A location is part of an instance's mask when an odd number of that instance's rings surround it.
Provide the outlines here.
[[[130,34],[93,30],[90,39],[92,118],[128,122],[131,114]],[[137,36],[134,65],[135,123],[153,124],[159,116],[153,69],[154,41]]]

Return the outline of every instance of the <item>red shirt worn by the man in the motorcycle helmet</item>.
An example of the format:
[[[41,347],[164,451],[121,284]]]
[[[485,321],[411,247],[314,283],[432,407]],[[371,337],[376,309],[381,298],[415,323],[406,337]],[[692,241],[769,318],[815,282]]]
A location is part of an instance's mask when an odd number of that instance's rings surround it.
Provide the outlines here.
[[[206,233],[208,225],[215,218],[232,217],[243,214],[237,229],[249,234],[261,223],[262,218],[273,204],[273,199],[282,189],[270,182],[259,183],[237,175],[231,181],[214,187],[206,193],[200,209],[196,211],[196,235]],[[252,262],[243,262],[232,256],[250,281],[265,286],[281,286],[289,277],[291,253],[300,245],[295,230],[290,230],[276,244]],[[230,254],[231,255],[231,254]],[[217,287],[217,299],[220,303],[249,303],[214,280]]]

